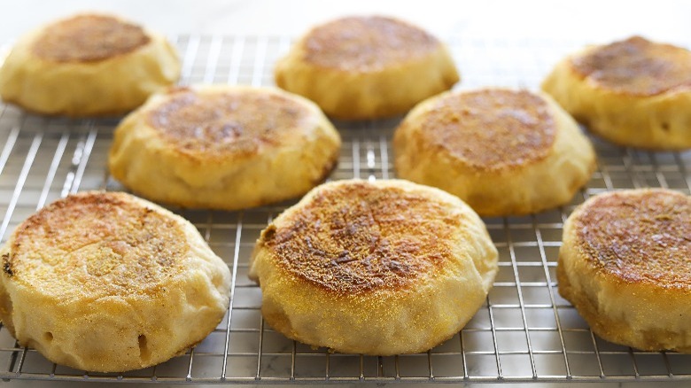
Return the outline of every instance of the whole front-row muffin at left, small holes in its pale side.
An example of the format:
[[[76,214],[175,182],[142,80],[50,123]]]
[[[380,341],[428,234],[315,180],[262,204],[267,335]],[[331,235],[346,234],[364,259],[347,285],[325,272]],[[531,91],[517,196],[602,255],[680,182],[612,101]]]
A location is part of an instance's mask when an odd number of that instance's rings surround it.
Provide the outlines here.
[[[229,305],[228,266],[160,206],[84,192],[43,207],[0,248],[0,318],[19,345],[120,372],[183,353]]]

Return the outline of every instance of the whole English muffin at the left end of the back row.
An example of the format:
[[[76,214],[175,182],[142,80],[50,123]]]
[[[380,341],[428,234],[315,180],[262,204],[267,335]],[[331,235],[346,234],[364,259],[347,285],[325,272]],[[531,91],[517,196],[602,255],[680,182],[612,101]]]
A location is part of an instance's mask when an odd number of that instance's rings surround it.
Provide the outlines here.
[[[177,53],[162,35],[114,16],[80,14],[19,39],[0,69],[0,96],[35,113],[116,114],[179,76]]]

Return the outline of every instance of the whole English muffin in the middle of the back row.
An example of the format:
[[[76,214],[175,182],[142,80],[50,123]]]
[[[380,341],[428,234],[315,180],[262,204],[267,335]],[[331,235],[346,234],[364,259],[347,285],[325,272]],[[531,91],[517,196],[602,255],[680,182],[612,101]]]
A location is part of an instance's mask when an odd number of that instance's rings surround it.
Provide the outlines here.
[[[276,63],[275,75],[279,87],[346,120],[406,113],[459,80],[437,38],[379,16],[314,27]]]

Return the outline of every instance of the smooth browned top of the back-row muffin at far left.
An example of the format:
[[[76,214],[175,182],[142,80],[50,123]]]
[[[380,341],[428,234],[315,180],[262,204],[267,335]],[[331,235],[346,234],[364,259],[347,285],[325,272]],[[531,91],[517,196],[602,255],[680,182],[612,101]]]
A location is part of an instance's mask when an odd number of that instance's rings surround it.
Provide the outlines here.
[[[77,15],[46,27],[34,54],[55,62],[97,62],[149,43],[142,27],[105,15]]]

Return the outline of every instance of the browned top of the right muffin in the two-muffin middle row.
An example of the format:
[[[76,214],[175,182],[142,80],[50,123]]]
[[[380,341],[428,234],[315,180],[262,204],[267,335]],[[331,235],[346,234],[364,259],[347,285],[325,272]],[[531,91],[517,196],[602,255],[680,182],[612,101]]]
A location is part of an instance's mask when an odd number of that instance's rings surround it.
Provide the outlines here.
[[[497,171],[546,158],[555,132],[542,97],[525,90],[481,89],[441,97],[424,113],[419,134],[467,167]]]

